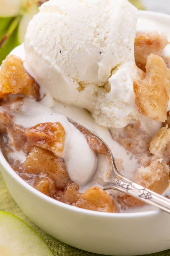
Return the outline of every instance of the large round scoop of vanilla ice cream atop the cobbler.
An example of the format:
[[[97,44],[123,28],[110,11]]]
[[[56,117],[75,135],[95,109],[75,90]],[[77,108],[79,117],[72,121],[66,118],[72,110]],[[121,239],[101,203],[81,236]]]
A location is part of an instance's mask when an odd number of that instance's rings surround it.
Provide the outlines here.
[[[129,70],[137,16],[127,0],[50,0],[29,23],[26,66],[56,100],[123,127],[135,112]]]

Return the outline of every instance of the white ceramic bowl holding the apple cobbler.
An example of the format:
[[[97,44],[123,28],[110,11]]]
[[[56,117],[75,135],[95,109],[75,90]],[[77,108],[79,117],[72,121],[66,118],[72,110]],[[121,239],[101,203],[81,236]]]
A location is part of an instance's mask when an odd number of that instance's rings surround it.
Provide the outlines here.
[[[168,15],[140,12],[138,27],[141,18],[147,29],[149,24],[153,28],[154,22],[156,27],[162,23],[164,28],[170,28]],[[29,186],[1,152],[0,163],[5,183],[19,207],[37,226],[60,241],[107,255],[141,255],[169,249],[169,214],[161,210],[102,213],[69,206]]]

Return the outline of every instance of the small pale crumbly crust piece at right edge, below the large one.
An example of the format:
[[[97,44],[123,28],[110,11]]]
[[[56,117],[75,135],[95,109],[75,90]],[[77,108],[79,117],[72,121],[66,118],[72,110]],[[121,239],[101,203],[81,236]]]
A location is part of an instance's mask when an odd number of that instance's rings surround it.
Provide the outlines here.
[[[150,142],[149,150],[156,157],[163,157],[164,150],[170,141],[170,129],[167,129],[167,125],[162,127],[159,132],[155,134]]]

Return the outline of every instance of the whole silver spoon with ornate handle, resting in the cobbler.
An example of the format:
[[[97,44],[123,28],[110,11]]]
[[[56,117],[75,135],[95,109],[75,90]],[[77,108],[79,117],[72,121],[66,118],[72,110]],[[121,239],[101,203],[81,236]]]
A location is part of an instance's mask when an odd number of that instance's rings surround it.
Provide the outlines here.
[[[73,121],[70,118],[68,118],[68,120],[74,126],[76,126],[77,129],[79,129],[83,134],[86,135],[87,141],[89,143],[91,140],[92,147],[94,143],[94,148],[91,149],[95,150],[97,142],[100,146],[98,150],[101,150],[102,154],[107,154],[111,168],[110,174],[108,175],[109,182],[104,182],[102,178],[98,178],[97,180],[98,184],[102,185],[103,190],[117,190],[123,192],[147,204],[159,207],[162,210],[170,213],[170,199],[134,183],[133,181],[127,179],[125,176],[119,173],[116,168],[115,160],[109,146],[97,134],[90,131],[85,126]]]

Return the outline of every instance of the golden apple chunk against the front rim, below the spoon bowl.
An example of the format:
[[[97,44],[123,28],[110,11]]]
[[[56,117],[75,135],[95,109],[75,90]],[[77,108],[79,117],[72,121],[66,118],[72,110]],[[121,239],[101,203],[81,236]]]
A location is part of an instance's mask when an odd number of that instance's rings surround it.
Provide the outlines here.
[[[99,187],[88,188],[76,202],[75,206],[103,212],[117,212],[113,197]]]

